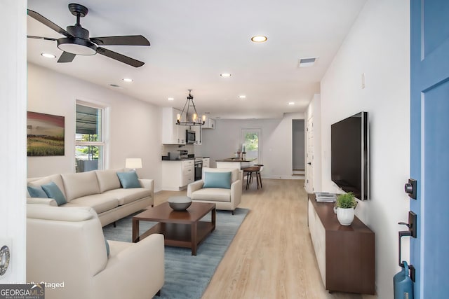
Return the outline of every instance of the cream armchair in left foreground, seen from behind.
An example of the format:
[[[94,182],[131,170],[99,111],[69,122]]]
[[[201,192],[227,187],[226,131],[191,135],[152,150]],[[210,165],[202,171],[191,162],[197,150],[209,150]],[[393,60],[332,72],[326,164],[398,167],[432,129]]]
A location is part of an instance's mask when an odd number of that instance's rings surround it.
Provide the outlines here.
[[[27,205],[27,281],[46,299],[148,299],[164,284],[163,235],[108,241],[89,207]]]

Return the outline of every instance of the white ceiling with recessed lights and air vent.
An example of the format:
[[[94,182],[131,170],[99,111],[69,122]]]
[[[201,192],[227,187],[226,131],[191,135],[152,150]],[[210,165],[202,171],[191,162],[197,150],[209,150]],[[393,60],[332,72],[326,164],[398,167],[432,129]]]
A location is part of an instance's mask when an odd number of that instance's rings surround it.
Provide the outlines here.
[[[72,1],[29,0],[28,8],[64,28]],[[142,34],[152,46],[105,46],[145,62],[139,68],[102,55],[57,63],[55,41],[27,39],[28,61],[158,106],[182,108],[187,90],[199,113],[221,118],[281,118],[304,111],[366,0],[89,0],[81,25],[93,36]],[[60,38],[33,18],[28,34]],[[266,43],[253,43],[262,34]],[[48,60],[40,53],[53,53]],[[302,57],[319,57],[297,68]],[[230,73],[230,78],[220,74]],[[122,78],[133,78],[126,83]],[[119,85],[113,88],[109,84]],[[246,99],[239,99],[246,95]],[[173,97],[173,102],[168,102]],[[289,106],[288,102],[295,102]]]

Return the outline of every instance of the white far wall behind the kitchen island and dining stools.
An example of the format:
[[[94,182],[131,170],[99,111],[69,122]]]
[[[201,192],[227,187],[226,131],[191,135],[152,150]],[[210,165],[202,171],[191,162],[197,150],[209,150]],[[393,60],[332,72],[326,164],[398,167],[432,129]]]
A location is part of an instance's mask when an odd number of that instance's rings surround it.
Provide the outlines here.
[[[262,129],[262,176],[297,179],[292,176],[293,119],[304,119],[304,113],[286,113],[282,119],[217,120],[214,130],[203,130],[202,145],[195,146],[195,155],[210,156],[210,167],[216,167],[215,160],[234,156],[241,145],[242,128],[258,127]]]

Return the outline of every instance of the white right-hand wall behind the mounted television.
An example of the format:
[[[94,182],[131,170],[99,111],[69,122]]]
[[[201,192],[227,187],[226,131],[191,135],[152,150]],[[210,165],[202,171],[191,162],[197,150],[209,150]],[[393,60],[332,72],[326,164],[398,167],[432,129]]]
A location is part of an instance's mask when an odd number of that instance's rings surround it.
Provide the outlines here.
[[[397,223],[408,219],[403,185],[410,166],[409,24],[408,1],[369,0],[321,81],[323,190],[337,190],[330,180],[330,125],[369,113],[371,200],[360,202],[356,215],[375,232],[378,298],[393,297],[403,229]]]

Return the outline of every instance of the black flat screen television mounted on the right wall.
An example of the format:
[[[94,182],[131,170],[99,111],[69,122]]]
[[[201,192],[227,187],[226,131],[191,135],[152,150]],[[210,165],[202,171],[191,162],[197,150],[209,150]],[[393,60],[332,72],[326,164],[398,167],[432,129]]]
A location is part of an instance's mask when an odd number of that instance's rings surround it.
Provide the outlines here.
[[[330,126],[332,181],[359,200],[370,198],[368,112],[360,112]]]

